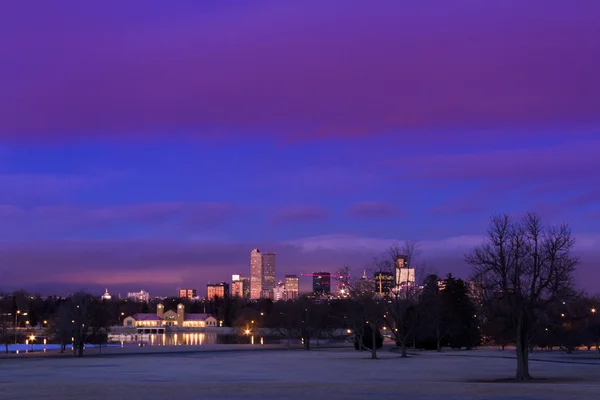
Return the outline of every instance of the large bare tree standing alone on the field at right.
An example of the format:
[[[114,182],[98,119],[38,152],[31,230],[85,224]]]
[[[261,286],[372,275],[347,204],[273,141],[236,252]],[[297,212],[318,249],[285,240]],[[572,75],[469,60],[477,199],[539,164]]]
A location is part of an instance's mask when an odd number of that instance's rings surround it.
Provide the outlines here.
[[[473,279],[510,310],[516,329],[516,379],[531,380],[533,327],[551,302],[572,291],[572,273],[578,263],[571,255],[575,239],[568,225],[545,227],[533,213],[520,221],[494,216],[487,236],[465,260],[473,267]]]

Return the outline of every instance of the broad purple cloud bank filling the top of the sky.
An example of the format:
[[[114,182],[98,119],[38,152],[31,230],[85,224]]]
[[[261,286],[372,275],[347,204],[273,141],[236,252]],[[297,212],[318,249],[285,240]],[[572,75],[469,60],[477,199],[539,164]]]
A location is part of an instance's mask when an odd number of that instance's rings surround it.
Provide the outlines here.
[[[0,17],[5,141],[322,138],[600,118],[594,1],[120,2],[119,13],[115,1],[25,3]]]

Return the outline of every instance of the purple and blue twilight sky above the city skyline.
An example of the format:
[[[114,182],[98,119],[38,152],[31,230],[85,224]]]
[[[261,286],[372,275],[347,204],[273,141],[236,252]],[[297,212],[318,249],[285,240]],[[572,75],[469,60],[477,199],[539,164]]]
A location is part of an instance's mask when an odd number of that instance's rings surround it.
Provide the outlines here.
[[[0,290],[204,293],[254,247],[282,277],[405,239],[466,277],[533,210],[600,291],[600,3],[405,3],[9,2]]]

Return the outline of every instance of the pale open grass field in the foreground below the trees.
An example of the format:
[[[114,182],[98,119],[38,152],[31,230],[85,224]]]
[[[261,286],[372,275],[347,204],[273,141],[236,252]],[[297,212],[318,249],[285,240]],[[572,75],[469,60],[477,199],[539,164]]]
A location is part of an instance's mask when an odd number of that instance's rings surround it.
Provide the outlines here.
[[[267,346],[265,346],[267,347]],[[262,347],[261,349],[264,349]],[[260,349],[0,359],[1,399],[598,399],[600,360],[536,353],[536,383],[506,381],[513,352],[415,353],[379,360],[352,349]]]

